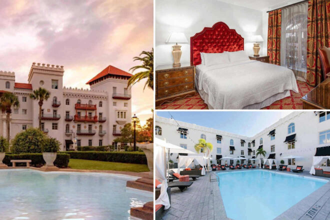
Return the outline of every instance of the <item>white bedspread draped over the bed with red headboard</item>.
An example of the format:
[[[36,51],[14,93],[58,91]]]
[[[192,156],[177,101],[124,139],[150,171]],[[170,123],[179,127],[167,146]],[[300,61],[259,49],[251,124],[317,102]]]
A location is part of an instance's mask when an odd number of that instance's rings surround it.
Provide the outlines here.
[[[242,109],[285,90],[298,92],[293,71],[279,65],[244,60],[196,68],[198,89],[214,109]]]

